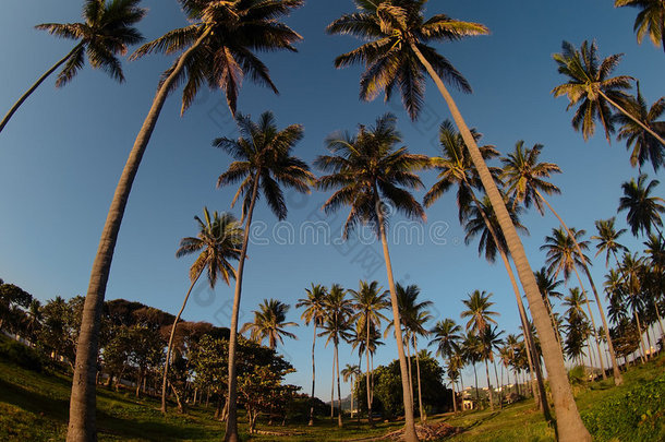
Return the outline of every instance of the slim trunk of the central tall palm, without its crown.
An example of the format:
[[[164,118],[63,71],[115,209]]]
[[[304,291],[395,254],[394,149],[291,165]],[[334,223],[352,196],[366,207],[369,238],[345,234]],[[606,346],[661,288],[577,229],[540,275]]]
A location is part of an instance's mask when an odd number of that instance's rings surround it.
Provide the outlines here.
[[[390,288],[390,304],[392,307],[392,326],[395,328],[395,341],[397,342],[397,354],[399,356],[399,371],[402,380],[402,397],[404,403],[404,441],[415,442],[415,422],[413,420],[413,402],[411,396],[410,383],[407,377],[409,370],[407,368],[407,357],[404,356],[404,345],[401,337],[401,325],[399,320],[399,309],[397,307],[397,290],[395,289],[395,279],[392,278],[392,264],[390,263],[390,253],[388,252],[388,240],[386,239],[386,228],[384,226],[384,215],[378,199],[378,191],[374,189],[374,210],[378,223],[378,231],[380,242],[384,249],[384,260],[386,261],[386,273],[388,276],[388,286]],[[370,343],[367,343],[368,345]]]

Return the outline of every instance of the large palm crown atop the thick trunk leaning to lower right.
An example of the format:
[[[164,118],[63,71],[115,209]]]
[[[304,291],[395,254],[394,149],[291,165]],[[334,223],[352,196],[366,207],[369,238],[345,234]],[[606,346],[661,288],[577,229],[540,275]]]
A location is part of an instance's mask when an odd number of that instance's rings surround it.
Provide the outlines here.
[[[428,46],[433,41],[456,41],[489,31],[479,23],[461,22],[445,14],[425,20],[427,0],[354,0],[358,12],[344,14],[327,27],[330,34],[351,34],[368,40],[361,47],[335,59],[336,68],[363,63],[360,96],[372,100],[386,93],[390,99],[398,87],[411,119],[415,120],[424,103],[425,69],[411,45],[420,50],[436,73],[463,92],[471,86],[455,67]]]

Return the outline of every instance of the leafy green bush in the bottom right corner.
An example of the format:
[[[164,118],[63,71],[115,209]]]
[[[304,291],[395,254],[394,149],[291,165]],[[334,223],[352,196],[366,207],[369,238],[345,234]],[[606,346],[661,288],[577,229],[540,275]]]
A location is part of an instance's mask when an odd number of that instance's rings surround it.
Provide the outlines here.
[[[665,375],[597,404],[582,420],[596,441],[665,440]]]

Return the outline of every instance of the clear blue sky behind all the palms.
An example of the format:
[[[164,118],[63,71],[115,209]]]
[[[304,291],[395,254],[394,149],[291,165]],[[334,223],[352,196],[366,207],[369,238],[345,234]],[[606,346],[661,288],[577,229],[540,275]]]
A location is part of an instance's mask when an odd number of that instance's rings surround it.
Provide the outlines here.
[[[173,0],[145,0],[143,4],[149,12],[140,28],[148,39],[185,24]],[[2,2],[0,114],[74,45],[33,26],[77,21],[80,8],[78,1]],[[262,56],[280,95],[247,81],[239,110],[257,117],[270,109],[279,127],[304,124],[305,138],[295,154],[310,163],[325,153],[326,135],[337,130],[353,131],[356,124],[372,123],[386,111],[397,115],[404,144],[412,152],[435,155],[432,140],[436,140],[437,127],[448,118],[448,111],[432,82],[427,83],[423,116],[412,123],[398,100],[359,100],[360,68],[334,68],[332,59],[359,43],[351,37],[328,36],[324,28],[353,8],[351,0],[310,0],[289,17],[288,23],[304,37],[298,45],[299,52]],[[637,176],[637,170],[630,167],[621,143],[608,145],[602,134],[584,143],[572,130],[567,100],[549,94],[563,82],[552,53],[559,51],[564,39],[579,46],[583,39],[595,38],[603,56],[625,53],[616,74],[639,77],[642,93],[653,103],[663,95],[665,57],[650,43],[637,44],[632,33],[636,12],[591,0],[430,3],[428,14],[440,12],[483,23],[492,31],[489,36],[437,46],[474,89],[472,95],[454,93],[467,122],[501,154],[510,152],[517,140],[524,140],[529,146],[545,145],[542,159],[555,162],[564,170],[554,177],[563,193],[551,201],[569,226],[593,231],[595,219],[615,215],[620,183]],[[158,76],[171,61],[152,56],[125,62],[126,83],[122,85],[89,67],[61,89],[56,89],[53,79],[49,79],[13,117],[0,134],[0,277],[5,282],[22,286],[41,300],[85,294],[114,187],[150,106]],[[196,232],[193,217],[204,205],[230,210],[234,189],[215,189],[229,157],[211,147],[210,141],[234,134],[220,93],[203,91],[182,118],[179,96],[169,98],[134,183],[107,299],[126,298],[170,312],[178,310],[192,263],[176,259],[178,241]],[[653,170],[645,170],[653,176]],[[434,178],[432,172],[423,174],[426,187]],[[662,187],[656,193],[663,195]],[[419,198],[422,194],[418,192]],[[307,222],[321,219],[331,226],[331,231],[338,231],[339,218],[346,212],[326,218],[319,210],[325,198],[318,192],[304,198],[288,194],[289,224],[277,224],[259,204],[256,241],[250,247],[245,267],[242,322],[251,320],[251,311],[264,298],[294,304],[310,283],[355,288],[359,279],[377,279],[387,288],[385,268],[373,261],[380,259],[375,242],[335,246],[311,237],[301,241],[298,234]],[[489,265],[479,259],[475,243],[463,244],[454,193],[430,208],[427,217],[428,223],[421,227],[425,235],[422,243],[408,243],[402,236],[390,246],[396,279],[418,284],[423,298],[434,301],[437,319],[458,322],[461,299],[467,294],[474,289],[491,291],[501,314],[499,326],[515,333],[519,320],[505,270],[500,263]],[[399,222],[399,217],[392,220],[394,225]],[[523,223],[531,230],[523,242],[536,270],[544,263],[539,247],[556,220],[532,211]],[[625,226],[622,214],[618,224]],[[297,234],[293,239],[288,238],[291,229]],[[628,246],[641,250],[639,241],[628,235],[625,239]],[[593,263],[600,285],[604,259]],[[231,297],[232,288],[219,285],[211,292],[201,285],[184,318],[228,326]],[[299,316],[300,312],[292,309],[289,319],[299,321]],[[309,392],[312,332],[300,326],[295,334],[299,341],[287,343],[282,351],[298,369],[290,382]],[[376,363],[394,357],[395,345],[388,339]],[[342,367],[358,361],[347,346],[340,349],[340,359]],[[317,395],[327,399],[331,348],[325,349],[323,341],[317,366]],[[348,392],[347,385],[342,392]]]

